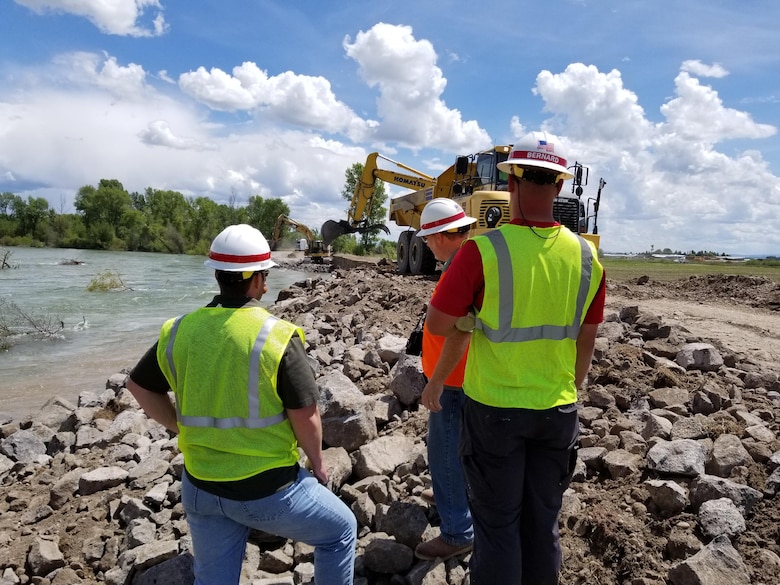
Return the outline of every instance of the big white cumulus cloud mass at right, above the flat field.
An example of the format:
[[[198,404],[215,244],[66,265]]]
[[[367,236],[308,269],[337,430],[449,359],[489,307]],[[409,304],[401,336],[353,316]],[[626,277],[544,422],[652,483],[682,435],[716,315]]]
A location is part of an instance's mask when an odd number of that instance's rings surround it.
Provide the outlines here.
[[[719,71],[683,63],[658,123],[618,71],[573,63],[537,77],[534,92],[551,114],[545,125],[566,137],[570,160],[590,166],[586,194],[595,195],[599,177],[607,181],[599,217],[607,250],[642,251],[654,242],[687,251],[696,240],[697,249],[740,251],[749,226],[780,220],[780,178],[757,150],[725,144],[761,140],[777,129],[725,106],[694,70],[709,77]],[[521,120],[513,120],[516,131],[524,130]],[[769,230],[762,238],[763,246],[780,248],[780,234]]]

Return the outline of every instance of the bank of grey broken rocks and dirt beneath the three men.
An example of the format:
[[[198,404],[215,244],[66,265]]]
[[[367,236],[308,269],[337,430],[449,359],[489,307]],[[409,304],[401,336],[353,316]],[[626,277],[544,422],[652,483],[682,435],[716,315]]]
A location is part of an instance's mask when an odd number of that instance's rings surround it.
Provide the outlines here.
[[[438,518],[420,497],[424,378],[403,349],[434,285],[382,267],[336,270],[271,307],[306,331],[331,488],[358,519],[361,585],[468,582],[468,556],[413,553]],[[580,397],[563,585],[780,583],[780,382],[727,342],[636,306],[608,315]],[[125,381],[3,421],[0,585],[192,583],[182,457]],[[310,583],[312,549],[253,533],[243,571],[252,585]]]

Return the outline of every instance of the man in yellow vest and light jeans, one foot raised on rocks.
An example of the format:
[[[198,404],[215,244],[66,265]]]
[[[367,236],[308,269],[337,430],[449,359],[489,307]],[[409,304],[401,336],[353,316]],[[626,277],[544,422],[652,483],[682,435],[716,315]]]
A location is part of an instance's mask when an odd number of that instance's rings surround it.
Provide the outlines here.
[[[127,384],[151,418],[178,434],[195,583],[237,585],[254,529],[314,546],[317,582],[351,585],[357,522],[325,487],[303,330],[259,302],[276,265],[268,242],[249,225],[229,226],[205,265],[220,294],[166,321]]]

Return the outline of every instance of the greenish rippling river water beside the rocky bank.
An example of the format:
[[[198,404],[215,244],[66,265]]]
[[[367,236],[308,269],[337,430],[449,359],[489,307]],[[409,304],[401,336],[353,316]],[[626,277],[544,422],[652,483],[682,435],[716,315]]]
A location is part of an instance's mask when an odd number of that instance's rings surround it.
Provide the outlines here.
[[[0,413],[21,418],[52,396],[76,402],[84,390],[132,367],[155,342],[162,323],[207,304],[218,292],[202,256],[52,248],[3,248],[12,268],[0,270],[0,311],[9,305],[61,328],[56,335],[6,339],[0,351]],[[2,258],[2,251],[0,251]],[[76,260],[80,264],[68,264]],[[90,292],[90,282],[110,270],[126,290]],[[327,275],[274,268],[266,304],[280,290]],[[0,315],[0,323],[3,315]]]

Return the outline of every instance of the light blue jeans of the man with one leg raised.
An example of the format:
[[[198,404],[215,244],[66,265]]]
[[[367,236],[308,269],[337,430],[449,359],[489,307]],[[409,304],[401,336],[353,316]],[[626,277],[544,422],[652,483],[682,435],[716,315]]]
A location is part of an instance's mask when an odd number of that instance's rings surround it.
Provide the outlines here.
[[[238,585],[252,529],[314,546],[317,583],[352,585],[355,516],[304,469],[286,489],[245,502],[198,489],[184,473],[181,500],[192,536],[195,585]]]

